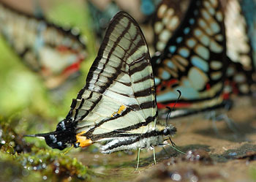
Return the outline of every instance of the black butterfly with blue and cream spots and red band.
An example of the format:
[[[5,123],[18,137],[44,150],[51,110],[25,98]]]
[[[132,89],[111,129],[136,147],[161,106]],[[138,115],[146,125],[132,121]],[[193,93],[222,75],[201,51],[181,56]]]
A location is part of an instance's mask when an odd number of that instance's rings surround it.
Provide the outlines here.
[[[218,0],[192,0],[164,50],[152,58],[159,117],[182,93],[171,117],[224,104],[227,69],[224,15]]]

